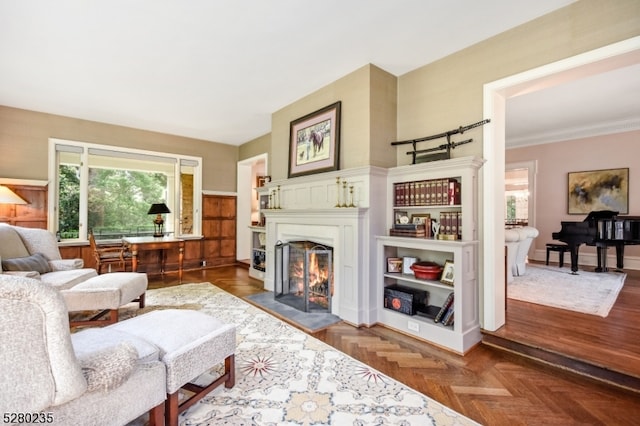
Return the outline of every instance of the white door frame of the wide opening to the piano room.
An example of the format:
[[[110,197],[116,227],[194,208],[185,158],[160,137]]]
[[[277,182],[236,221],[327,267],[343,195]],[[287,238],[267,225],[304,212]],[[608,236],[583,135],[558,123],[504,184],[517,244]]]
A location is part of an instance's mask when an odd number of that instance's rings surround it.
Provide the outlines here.
[[[481,326],[496,331],[505,324],[504,191],[506,100],[518,94],[561,84],[640,63],[640,37],[614,43],[558,62],[497,80],[484,86],[483,156],[487,160],[481,179],[482,200],[482,317]]]

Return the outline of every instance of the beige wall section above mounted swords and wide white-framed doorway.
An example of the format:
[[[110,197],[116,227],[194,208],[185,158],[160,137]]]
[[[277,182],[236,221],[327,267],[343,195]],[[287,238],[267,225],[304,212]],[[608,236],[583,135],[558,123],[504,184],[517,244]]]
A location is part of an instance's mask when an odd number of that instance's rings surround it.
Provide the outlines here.
[[[482,116],[484,84],[638,35],[640,1],[581,0],[404,74],[398,78],[398,138],[491,118]],[[474,142],[456,148],[453,156],[482,156],[482,131],[465,135]],[[419,149],[435,144],[425,142]],[[407,150],[398,148],[399,165],[410,163]]]

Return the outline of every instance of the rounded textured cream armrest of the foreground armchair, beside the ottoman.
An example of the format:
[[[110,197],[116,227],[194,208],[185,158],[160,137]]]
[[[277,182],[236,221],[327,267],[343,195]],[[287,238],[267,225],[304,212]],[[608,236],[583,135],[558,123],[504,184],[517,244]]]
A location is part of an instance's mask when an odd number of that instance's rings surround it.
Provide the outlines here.
[[[129,378],[137,360],[138,351],[130,342],[122,342],[80,358],[82,374],[87,379],[87,391],[108,392],[117,388]]]

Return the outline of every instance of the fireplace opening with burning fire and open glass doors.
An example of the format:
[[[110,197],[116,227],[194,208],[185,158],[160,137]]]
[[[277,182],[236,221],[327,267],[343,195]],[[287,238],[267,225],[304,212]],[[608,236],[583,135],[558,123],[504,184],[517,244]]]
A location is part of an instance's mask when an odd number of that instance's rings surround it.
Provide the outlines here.
[[[275,246],[274,295],[303,312],[330,312],[333,248],[313,241],[278,241]]]

